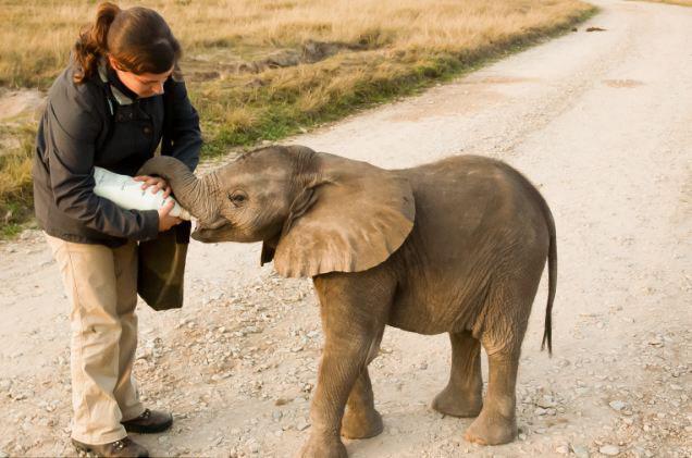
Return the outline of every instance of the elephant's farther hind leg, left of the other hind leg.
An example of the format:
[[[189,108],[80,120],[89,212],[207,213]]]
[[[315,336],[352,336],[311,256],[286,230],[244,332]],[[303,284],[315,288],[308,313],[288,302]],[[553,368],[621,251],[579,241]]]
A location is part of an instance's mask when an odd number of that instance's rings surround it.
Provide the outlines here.
[[[449,333],[452,373],[447,386],[435,396],[432,408],[453,417],[475,417],[483,407],[481,343],[469,331]]]

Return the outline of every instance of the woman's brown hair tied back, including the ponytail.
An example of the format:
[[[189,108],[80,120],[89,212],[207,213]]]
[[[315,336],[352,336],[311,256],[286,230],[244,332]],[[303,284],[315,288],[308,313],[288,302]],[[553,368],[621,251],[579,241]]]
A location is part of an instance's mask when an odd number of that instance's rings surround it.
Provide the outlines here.
[[[92,77],[99,60],[111,55],[120,70],[140,75],[177,70],[181,45],[159,13],[148,8],[121,10],[116,4],[102,2],[96,21],[79,34],[74,46],[76,69],[74,82]]]

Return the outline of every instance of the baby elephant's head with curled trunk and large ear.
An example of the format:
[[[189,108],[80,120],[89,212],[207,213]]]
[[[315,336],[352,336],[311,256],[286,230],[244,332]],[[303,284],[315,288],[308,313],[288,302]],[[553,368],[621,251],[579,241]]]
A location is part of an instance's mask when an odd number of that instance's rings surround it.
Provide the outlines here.
[[[250,151],[197,178],[171,157],[140,174],[169,181],[200,242],[263,242],[262,263],[285,276],[357,272],[383,262],[413,226],[406,178],[300,146]]]

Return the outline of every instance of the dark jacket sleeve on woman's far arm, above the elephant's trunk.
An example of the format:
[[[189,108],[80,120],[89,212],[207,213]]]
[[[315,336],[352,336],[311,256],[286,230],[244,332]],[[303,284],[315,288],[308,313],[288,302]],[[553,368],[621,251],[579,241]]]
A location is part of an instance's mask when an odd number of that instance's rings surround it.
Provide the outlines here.
[[[189,101],[185,83],[171,79],[164,94],[164,133],[161,153],[172,156],[195,171],[202,145],[199,115]]]

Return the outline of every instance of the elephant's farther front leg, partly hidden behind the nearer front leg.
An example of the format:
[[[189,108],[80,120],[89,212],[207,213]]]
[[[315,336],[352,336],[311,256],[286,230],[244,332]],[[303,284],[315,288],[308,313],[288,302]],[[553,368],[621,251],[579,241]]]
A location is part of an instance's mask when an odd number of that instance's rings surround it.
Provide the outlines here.
[[[367,364],[378,356],[381,341],[382,334],[370,347]],[[346,413],[342,421],[342,435],[347,438],[368,438],[376,436],[383,429],[382,417],[374,408],[372,384],[366,366],[348,396]]]

